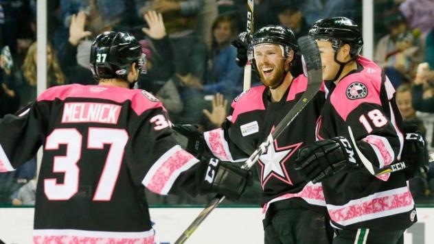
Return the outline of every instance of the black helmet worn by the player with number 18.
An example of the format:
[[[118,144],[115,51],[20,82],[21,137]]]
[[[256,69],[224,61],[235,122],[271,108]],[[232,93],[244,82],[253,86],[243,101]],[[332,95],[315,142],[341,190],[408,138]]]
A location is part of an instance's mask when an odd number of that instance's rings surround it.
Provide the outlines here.
[[[317,40],[332,42],[335,51],[343,44],[350,45],[352,58],[356,58],[363,47],[360,28],[354,21],[346,17],[320,19],[312,25],[309,34]]]

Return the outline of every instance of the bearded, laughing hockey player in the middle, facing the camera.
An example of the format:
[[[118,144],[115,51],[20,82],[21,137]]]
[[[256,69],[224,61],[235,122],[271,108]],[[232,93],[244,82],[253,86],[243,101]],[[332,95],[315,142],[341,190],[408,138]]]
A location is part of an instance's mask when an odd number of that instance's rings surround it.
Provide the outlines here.
[[[262,27],[253,34],[251,46],[263,86],[236,97],[222,128],[204,133],[206,149],[220,160],[236,161],[252,154],[307,87],[304,75],[290,73],[297,52],[291,29]],[[315,141],[315,121],[324,97],[321,91],[308,103],[255,167],[262,186],[266,244],[330,243],[321,184],[306,184],[293,168],[299,147]]]

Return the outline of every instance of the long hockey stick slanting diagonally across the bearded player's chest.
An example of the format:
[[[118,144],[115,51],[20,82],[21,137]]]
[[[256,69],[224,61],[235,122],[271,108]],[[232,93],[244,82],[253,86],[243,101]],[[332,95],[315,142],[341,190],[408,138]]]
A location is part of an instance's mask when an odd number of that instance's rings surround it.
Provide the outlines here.
[[[242,165],[242,169],[250,169],[255,162],[258,161],[259,157],[266,152],[269,145],[273,143],[275,138],[277,138],[282,132],[288,127],[288,125],[293,122],[295,117],[303,110],[303,108],[308,104],[308,102],[315,97],[318,93],[319,88],[321,88],[322,82],[322,70],[321,70],[321,56],[319,55],[319,50],[317,46],[317,42],[315,42],[312,36],[304,36],[299,38],[298,40],[299,48],[301,53],[304,53],[304,57],[306,58],[306,66],[308,73],[308,87],[306,91],[301,95],[301,98],[295,106],[285,115],[284,119],[280,121],[275,130],[271,132],[269,136],[267,136],[266,141],[264,141],[258,149],[253,151],[253,154],[247,159],[246,162]],[[179,236],[179,238],[175,241],[175,244],[184,243],[190,235],[198,228],[198,226],[202,223],[203,220],[209,215],[209,213],[220,204],[224,196],[217,195],[214,199],[209,202],[209,204],[205,207],[204,210],[194,219],[194,221],[188,226],[188,228]]]

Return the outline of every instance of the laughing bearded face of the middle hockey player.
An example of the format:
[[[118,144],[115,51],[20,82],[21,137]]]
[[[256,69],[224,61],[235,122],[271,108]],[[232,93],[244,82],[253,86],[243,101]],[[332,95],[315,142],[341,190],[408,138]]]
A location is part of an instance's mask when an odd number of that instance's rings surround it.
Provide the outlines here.
[[[262,84],[275,87],[284,79],[287,72],[285,68],[289,66],[289,62],[286,62],[282,46],[271,43],[260,44],[254,47],[253,55]]]

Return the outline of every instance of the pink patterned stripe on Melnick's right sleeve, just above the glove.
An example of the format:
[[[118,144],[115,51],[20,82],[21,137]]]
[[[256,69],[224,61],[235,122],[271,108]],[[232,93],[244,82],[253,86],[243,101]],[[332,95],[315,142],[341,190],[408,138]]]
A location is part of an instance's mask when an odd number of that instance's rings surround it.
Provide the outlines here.
[[[182,149],[176,151],[165,162],[161,163],[160,167],[152,175],[150,182],[146,184],[146,187],[150,191],[161,194],[172,175],[179,171],[187,162],[194,159],[194,156],[187,153],[187,151]]]

